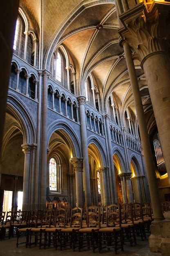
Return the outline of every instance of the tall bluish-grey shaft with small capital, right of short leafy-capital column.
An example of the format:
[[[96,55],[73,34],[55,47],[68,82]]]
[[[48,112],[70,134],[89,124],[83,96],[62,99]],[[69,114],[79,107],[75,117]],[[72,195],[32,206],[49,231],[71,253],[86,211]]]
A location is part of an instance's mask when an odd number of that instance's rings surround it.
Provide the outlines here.
[[[78,96],[77,99],[78,99],[80,123],[81,123],[81,144],[82,144],[82,154],[83,154],[85,204],[89,206],[92,203],[92,198],[91,198],[91,188],[90,188],[89,157],[88,157],[86,121],[85,121],[85,97]]]

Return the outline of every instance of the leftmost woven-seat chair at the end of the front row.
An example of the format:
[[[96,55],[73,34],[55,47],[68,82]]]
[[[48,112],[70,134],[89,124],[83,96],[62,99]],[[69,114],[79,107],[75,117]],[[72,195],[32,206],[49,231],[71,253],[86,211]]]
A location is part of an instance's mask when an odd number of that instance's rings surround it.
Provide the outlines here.
[[[18,229],[17,232],[17,243],[16,243],[16,247],[18,247],[18,245],[20,244],[25,244],[26,248],[29,244],[29,230],[32,227],[37,227],[37,222],[38,222],[38,211],[37,210],[31,210],[28,212],[29,216],[28,216],[28,222],[27,222],[27,227],[22,227],[20,229]],[[25,217],[27,218],[27,217]],[[26,241],[19,243],[19,238],[21,235],[26,236]]]

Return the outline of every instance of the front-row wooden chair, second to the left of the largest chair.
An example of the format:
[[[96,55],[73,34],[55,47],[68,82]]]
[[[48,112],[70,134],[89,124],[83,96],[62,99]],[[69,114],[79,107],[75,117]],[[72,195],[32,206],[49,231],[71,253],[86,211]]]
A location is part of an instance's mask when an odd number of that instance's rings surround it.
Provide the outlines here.
[[[67,228],[61,229],[60,233],[60,249],[63,247],[69,246],[75,251],[77,240],[78,240],[78,231],[82,227],[82,216],[83,208],[74,207],[71,213],[71,222],[70,226]]]

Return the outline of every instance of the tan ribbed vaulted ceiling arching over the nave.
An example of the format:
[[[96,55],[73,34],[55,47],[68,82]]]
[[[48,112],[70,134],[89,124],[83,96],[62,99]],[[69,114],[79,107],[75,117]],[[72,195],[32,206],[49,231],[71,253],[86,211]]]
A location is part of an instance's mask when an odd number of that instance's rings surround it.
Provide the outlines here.
[[[91,73],[100,92],[102,109],[113,93],[119,109],[136,111],[123,48],[119,46],[118,20],[114,0],[20,0],[31,25],[43,31],[44,68],[53,49],[64,45],[76,69],[78,94]],[[42,17],[42,19],[41,19]],[[97,29],[97,25],[102,25]],[[147,123],[154,120],[150,96],[139,61],[134,61]],[[46,66],[47,65],[47,66]],[[151,119],[153,119],[151,121]]]

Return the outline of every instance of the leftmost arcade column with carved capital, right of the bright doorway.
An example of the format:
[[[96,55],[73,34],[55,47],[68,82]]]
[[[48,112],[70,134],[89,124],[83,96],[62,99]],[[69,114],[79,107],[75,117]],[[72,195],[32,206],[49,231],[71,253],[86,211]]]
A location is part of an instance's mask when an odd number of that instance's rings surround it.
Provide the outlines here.
[[[24,176],[23,176],[23,201],[22,210],[29,210],[29,184],[30,184],[30,159],[31,159],[31,145],[22,144],[22,151],[25,154],[24,158]]]

